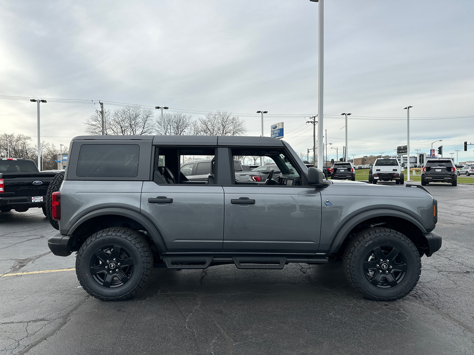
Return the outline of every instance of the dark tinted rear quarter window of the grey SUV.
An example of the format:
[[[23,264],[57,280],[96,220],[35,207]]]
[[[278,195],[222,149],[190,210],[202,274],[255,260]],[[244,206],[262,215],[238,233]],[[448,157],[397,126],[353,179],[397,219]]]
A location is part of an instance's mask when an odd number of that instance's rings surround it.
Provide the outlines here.
[[[138,144],[83,144],[76,176],[136,177],[139,152]]]

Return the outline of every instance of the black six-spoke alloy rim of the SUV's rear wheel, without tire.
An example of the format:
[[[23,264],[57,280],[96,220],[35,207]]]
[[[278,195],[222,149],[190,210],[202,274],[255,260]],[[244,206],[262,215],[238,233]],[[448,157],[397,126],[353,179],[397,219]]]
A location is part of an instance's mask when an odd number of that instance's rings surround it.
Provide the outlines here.
[[[94,252],[89,270],[92,278],[103,287],[119,287],[128,282],[133,273],[133,259],[126,248],[106,245]]]

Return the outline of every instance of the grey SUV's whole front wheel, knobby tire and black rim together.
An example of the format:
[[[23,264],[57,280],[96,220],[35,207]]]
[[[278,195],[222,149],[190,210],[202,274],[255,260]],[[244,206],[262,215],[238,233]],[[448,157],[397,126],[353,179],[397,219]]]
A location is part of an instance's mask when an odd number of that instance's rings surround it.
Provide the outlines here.
[[[421,274],[415,245],[398,231],[369,228],[347,245],[344,273],[357,291],[374,301],[395,301],[413,290]]]

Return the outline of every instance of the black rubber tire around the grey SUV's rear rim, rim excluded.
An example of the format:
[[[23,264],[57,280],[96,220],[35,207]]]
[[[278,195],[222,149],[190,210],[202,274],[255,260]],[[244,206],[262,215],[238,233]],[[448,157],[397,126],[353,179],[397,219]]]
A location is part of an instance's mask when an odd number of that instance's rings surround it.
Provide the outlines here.
[[[90,273],[91,258],[106,245],[125,248],[133,260],[133,271],[126,284],[107,288]],[[145,238],[129,228],[112,227],[92,234],[79,248],[76,257],[76,275],[84,290],[101,301],[123,301],[131,298],[146,283],[153,267],[153,252]]]

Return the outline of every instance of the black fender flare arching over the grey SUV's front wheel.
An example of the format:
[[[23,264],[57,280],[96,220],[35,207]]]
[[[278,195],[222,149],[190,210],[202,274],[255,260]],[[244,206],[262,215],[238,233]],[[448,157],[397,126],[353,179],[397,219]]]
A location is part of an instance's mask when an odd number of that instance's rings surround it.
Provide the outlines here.
[[[391,210],[391,209],[385,209],[385,208],[380,208],[376,210],[369,210],[365,211],[359,214],[356,214],[353,216],[351,219],[346,221],[341,228],[339,228],[339,231],[336,234],[336,237],[332,241],[331,248],[329,248],[329,253],[337,253],[339,248],[341,247],[342,243],[344,242],[344,239],[346,238],[346,235],[354,228],[356,227],[357,224],[364,222],[365,220],[368,220],[369,218],[374,218],[374,217],[382,217],[382,216],[389,216],[389,217],[399,217],[403,218],[404,220],[407,220],[408,222],[413,223],[415,226],[418,227],[420,230],[420,234],[428,234],[426,229],[421,225],[420,222],[418,222],[415,218],[410,216],[408,213],[404,213],[398,210]],[[425,236],[426,238],[426,236]],[[428,239],[427,239],[428,241]]]

